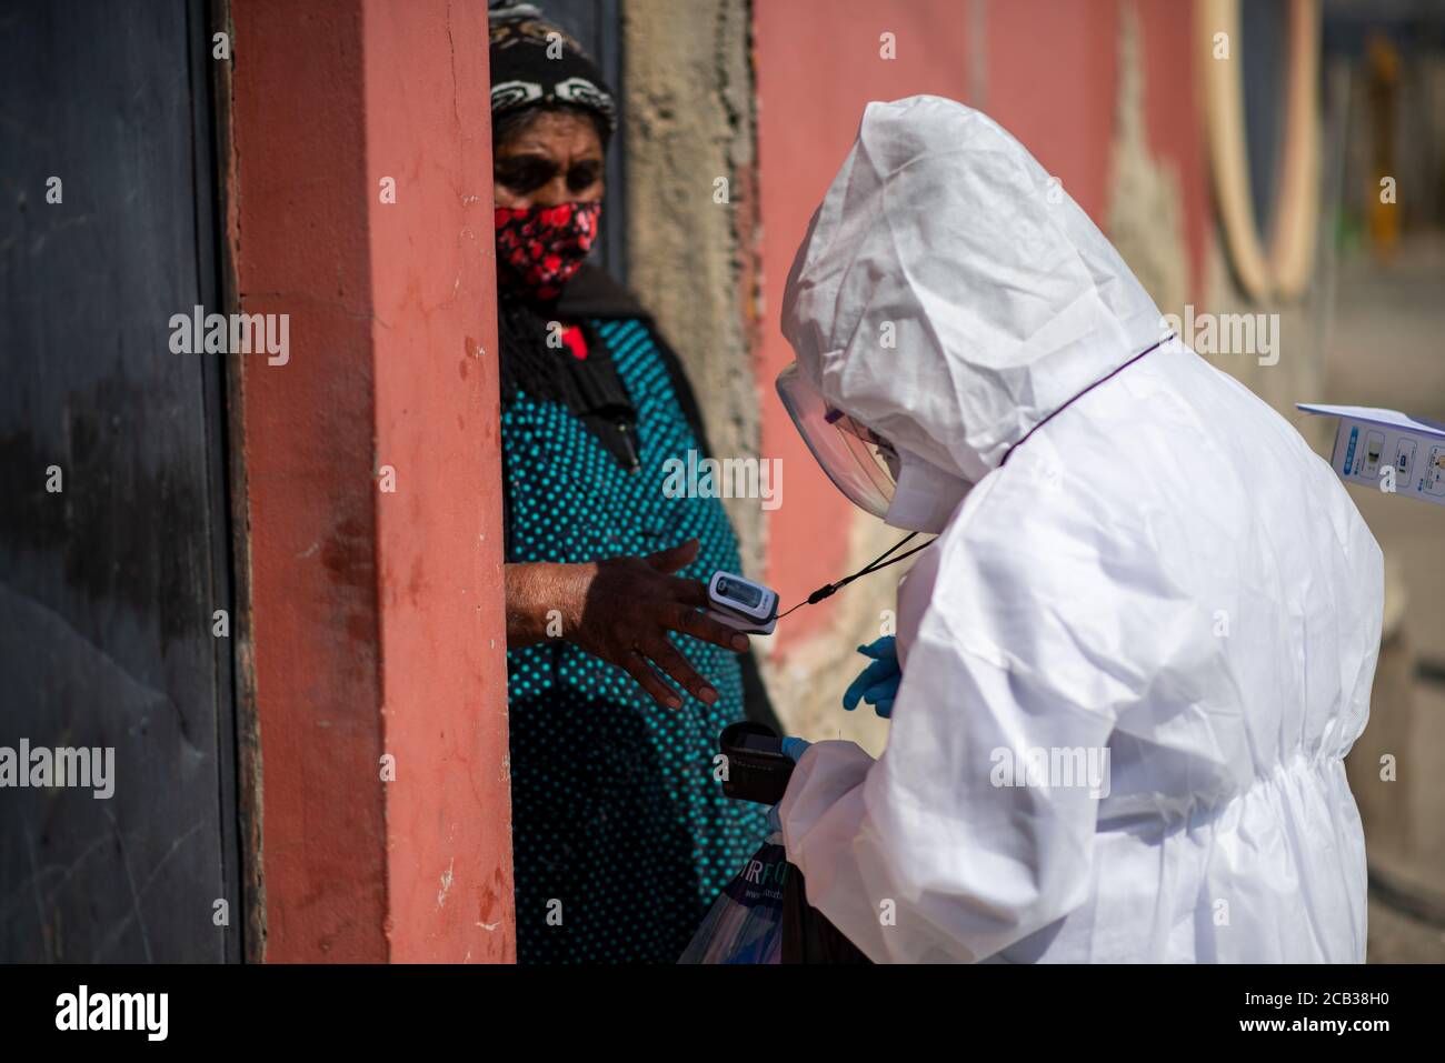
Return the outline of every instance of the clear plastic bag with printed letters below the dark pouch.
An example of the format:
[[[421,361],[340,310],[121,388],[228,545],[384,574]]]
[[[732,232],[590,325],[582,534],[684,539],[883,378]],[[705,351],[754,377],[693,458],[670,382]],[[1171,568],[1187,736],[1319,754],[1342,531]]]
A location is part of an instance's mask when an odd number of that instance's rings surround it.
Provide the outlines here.
[[[708,910],[679,963],[780,963],[783,888],[793,868],[780,833],[743,865]]]

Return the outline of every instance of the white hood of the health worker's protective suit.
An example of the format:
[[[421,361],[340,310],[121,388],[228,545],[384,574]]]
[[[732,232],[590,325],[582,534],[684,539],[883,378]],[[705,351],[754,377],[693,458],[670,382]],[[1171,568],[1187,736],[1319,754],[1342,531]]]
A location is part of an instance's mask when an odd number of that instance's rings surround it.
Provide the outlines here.
[[[798,248],[782,328],[828,404],[977,482],[1163,326],[1017,140],[919,95],[864,111]]]

